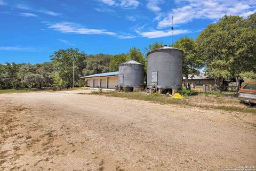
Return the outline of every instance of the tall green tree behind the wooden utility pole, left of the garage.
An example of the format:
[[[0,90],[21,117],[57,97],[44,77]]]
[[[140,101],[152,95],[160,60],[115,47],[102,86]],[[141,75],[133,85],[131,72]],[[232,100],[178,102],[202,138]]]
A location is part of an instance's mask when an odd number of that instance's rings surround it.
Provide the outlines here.
[[[54,52],[54,55],[50,56],[54,71],[58,72],[59,77],[62,79],[66,88],[69,88],[73,84],[73,61],[75,63],[75,81],[82,76],[82,69],[80,62],[86,59],[84,52],[69,48],[67,50],[59,50]]]

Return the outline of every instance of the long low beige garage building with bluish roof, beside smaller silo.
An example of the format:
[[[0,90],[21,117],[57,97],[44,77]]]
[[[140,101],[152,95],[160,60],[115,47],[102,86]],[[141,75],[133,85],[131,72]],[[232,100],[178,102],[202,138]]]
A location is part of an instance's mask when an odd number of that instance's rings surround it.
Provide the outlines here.
[[[85,87],[96,87],[96,88],[111,88],[115,89],[118,85],[118,74],[119,72],[106,72],[101,74],[93,74],[90,76],[84,76],[81,78],[85,79]]]

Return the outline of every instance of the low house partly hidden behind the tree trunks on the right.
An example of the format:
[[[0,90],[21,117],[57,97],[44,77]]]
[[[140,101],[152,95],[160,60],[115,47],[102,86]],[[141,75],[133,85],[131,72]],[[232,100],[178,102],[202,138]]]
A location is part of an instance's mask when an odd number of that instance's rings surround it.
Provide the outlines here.
[[[186,79],[183,77],[182,80],[182,86],[185,86]],[[191,76],[188,78],[188,82],[190,83],[191,89],[195,91],[214,91],[215,88],[215,80],[213,77],[210,76],[194,76],[193,79],[191,79]],[[223,86],[228,88],[228,84],[230,82],[224,81]]]

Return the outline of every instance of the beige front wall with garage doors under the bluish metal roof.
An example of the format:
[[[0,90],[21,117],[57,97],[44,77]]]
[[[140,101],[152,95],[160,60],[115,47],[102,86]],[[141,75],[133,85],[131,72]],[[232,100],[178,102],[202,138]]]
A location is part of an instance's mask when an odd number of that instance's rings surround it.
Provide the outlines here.
[[[118,85],[118,75],[85,78],[85,82],[87,82],[87,87],[102,87],[114,89],[115,86]]]

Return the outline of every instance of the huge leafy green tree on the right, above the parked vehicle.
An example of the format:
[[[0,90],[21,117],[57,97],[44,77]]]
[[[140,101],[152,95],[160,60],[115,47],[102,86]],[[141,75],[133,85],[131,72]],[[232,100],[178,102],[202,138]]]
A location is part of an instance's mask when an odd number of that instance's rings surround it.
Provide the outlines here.
[[[236,78],[239,89],[242,74],[255,73],[255,22],[255,13],[248,19],[225,15],[197,37],[198,54],[204,59],[205,70],[215,78],[220,92],[225,78]]]

